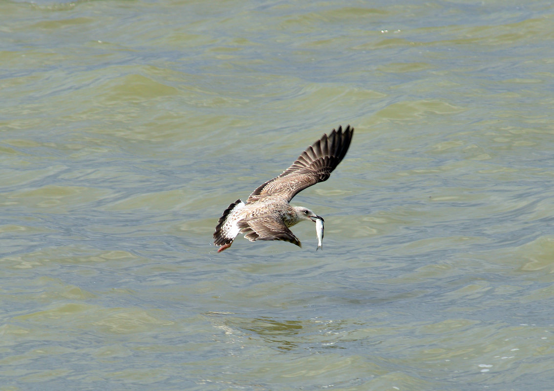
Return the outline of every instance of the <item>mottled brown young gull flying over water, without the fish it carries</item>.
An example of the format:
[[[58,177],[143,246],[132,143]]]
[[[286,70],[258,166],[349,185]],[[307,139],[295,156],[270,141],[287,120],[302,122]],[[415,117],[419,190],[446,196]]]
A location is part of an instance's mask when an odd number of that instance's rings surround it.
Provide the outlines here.
[[[301,247],[300,240],[289,229],[302,220],[321,219],[305,207],[292,207],[289,202],[307,187],[329,179],[331,172],[345,157],[354,128],[348,125],[333,129],[307,147],[278,177],[265,182],[248,197],[237,199],[223,212],[213,234],[217,252],[231,246],[238,234],[250,241],[285,240]]]

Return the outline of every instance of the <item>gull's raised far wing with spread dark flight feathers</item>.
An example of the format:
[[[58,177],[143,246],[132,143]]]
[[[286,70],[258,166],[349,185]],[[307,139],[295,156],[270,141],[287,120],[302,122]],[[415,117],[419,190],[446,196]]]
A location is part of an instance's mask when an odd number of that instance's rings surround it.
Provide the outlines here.
[[[255,202],[273,195],[290,202],[305,188],[317,182],[326,181],[338,163],[345,157],[353,134],[354,128],[350,125],[344,131],[342,131],[342,126],[339,126],[338,130],[333,129],[329,136],[324,134],[307,147],[282,174],[255,189],[248,197],[247,202]]]

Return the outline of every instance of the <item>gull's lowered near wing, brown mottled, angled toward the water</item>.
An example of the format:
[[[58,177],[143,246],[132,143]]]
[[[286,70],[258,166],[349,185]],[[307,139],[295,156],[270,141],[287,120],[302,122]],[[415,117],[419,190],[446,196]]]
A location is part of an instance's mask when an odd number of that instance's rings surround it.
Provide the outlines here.
[[[283,217],[278,215],[243,219],[237,225],[240,228],[240,233],[243,233],[244,237],[250,241],[284,240],[302,247],[300,240],[293,234],[293,231],[286,227]]]

